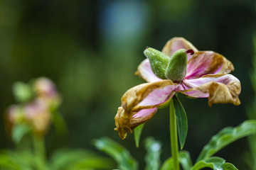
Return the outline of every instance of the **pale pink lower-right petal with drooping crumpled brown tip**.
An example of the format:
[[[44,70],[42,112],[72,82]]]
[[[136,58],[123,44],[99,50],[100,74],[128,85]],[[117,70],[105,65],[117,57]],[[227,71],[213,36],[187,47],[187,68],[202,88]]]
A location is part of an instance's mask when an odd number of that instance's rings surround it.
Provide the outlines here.
[[[198,79],[184,79],[178,90],[191,97],[208,97],[209,106],[213,103],[240,104],[240,81],[231,74],[210,74]]]

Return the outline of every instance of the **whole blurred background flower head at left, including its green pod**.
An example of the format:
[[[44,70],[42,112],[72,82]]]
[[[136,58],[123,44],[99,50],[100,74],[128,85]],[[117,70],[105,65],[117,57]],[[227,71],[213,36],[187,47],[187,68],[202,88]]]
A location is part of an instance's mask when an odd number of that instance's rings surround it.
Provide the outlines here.
[[[34,79],[32,84],[16,82],[13,91],[18,104],[9,106],[5,115],[6,130],[12,140],[19,142],[14,139],[19,126],[28,127],[28,131],[33,132],[33,135],[46,135],[50,123],[55,121],[54,115],[58,114],[57,109],[61,101],[53,82],[46,77]]]

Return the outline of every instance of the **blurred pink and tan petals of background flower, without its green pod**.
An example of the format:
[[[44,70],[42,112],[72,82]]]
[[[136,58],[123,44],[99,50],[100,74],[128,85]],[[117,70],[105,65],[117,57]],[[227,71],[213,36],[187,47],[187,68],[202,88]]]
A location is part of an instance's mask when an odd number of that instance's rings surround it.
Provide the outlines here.
[[[53,81],[40,77],[32,82],[26,86],[33,89],[33,98],[26,103],[12,105],[6,111],[6,129],[9,133],[14,125],[24,124],[31,128],[34,135],[45,135],[50,127],[51,115],[60,106],[60,94]]]

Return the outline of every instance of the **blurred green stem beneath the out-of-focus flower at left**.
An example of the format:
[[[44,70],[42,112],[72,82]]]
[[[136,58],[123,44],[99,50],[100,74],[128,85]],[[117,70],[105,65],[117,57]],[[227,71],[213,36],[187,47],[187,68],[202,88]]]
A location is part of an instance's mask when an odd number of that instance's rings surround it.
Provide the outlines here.
[[[43,137],[34,135],[33,145],[37,170],[46,170],[46,149]]]

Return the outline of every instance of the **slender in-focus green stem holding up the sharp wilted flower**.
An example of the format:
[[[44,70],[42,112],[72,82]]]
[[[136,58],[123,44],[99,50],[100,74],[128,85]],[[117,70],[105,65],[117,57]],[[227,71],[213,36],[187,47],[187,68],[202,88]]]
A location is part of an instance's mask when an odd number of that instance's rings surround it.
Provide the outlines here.
[[[174,110],[174,100],[170,102],[170,133],[171,133],[171,157],[174,159],[174,169],[179,170],[178,162],[178,134],[176,115]]]

